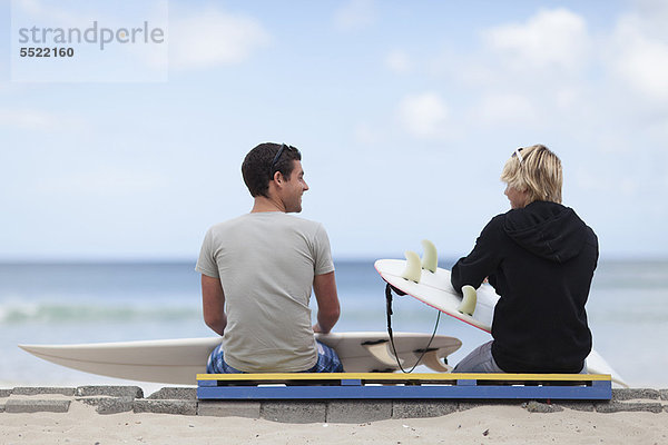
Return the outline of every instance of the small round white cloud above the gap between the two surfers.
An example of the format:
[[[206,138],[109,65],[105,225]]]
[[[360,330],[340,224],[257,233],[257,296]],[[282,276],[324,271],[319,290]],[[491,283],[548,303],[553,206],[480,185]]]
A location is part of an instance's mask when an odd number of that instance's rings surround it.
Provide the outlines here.
[[[406,96],[399,105],[402,126],[413,136],[441,139],[448,136],[450,110],[435,92]]]

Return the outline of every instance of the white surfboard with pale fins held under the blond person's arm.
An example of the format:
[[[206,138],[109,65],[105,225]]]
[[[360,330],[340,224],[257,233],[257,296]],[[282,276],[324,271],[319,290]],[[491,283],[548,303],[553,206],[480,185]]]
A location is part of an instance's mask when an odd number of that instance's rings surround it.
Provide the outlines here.
[[[450,270],[439,267],[432,273],[423,269],[420,281],[415,283],[402,277],[406,269],[406,260],[379,259],[374,267],[386,283],[407,295],[487,333],[492,330],[494,306],[500,296],[489,284],[483,284],[477,289],[475,310],[473,315],[468,315],[459,312],[462,297],[450,283]],[[628,387],[621,376],[593,349],[587,357],[587,372],[589,374],[610,374],[612,382]]]

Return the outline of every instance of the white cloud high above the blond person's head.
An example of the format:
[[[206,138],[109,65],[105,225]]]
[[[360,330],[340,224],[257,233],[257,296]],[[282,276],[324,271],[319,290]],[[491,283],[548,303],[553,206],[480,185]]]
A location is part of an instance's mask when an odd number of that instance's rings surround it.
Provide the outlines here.
[[[584,19],[567,9],[541,10],[525,23],[492,28],[483,32],[483,40],[519,71],[577,71],[590,49]]]

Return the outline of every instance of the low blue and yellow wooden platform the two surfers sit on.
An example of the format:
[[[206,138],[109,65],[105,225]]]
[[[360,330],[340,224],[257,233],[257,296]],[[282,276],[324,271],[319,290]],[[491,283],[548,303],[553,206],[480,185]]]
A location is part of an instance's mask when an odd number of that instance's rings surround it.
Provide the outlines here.
[[[612,396],[605,374],[198,374],[200,399],[572,399]]]

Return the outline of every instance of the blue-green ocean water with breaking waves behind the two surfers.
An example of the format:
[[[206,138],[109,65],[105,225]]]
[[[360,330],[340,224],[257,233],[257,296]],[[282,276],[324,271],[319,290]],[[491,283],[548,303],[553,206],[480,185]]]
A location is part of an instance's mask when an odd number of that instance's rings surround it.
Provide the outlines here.
[[[384,283],[373,260],[336,261],[336,280],[342,316],[335,330],[385,330]],[[435,309],[407,296],[395,297],[393,307],[394,332],[433,330]],[[660,346],[668,338],[668,261],[602,261],[587,309],[595,348],[627,383],[668,388],[668,353]],[[451,364],[491,338],[448,316],[438,333],[463,342]],[[210,335],[194,263],[0,265],[0,387],[130,384],[47,363],[18,344]]]

